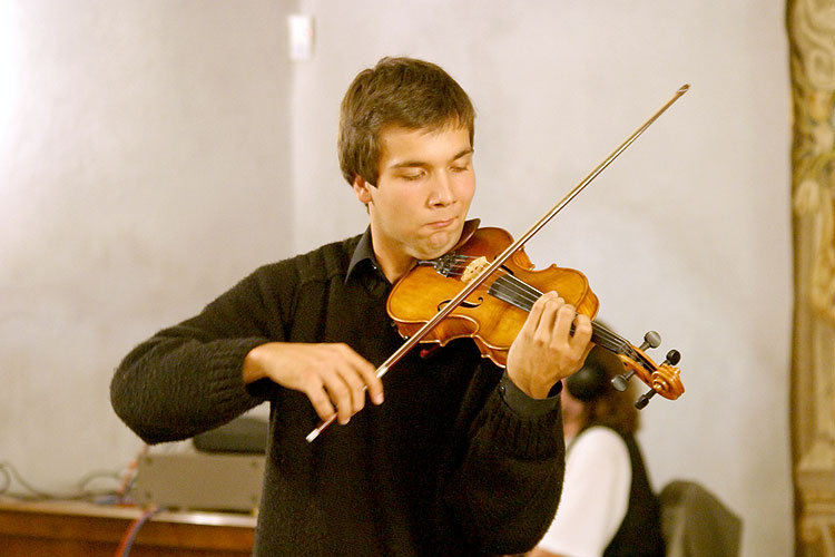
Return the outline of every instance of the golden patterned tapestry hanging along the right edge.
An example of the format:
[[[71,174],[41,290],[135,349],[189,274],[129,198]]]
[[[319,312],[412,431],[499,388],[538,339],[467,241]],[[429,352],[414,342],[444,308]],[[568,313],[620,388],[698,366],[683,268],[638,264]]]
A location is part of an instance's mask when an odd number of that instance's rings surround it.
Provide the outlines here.
[[[835,2],[788,0],[797,555],[835,557]]]

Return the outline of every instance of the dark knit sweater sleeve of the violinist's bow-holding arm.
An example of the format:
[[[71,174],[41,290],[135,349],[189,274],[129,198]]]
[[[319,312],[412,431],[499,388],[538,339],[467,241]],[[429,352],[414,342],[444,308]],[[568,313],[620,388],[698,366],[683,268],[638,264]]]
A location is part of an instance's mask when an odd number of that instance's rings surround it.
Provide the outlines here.
[[[266,297],[267,284],[264,271],[254,273],[199,315],[159,331],[122,360],[110,400],[143,440],[188,439],[266,399],[273,383],[245,384],[243,364],[253,348],[283,340],[282,305],[289,301],[281,293]],[[289,286],[282,290],[289,292]]]

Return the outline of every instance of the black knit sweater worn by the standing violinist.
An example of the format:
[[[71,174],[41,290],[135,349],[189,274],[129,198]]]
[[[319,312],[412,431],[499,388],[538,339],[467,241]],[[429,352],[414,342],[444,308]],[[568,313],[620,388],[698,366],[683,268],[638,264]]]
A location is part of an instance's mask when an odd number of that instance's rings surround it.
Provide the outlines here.
[[[264,266],[128,354],[111,383],[114,408],[155,443],[269,401],[257,556],[530,549],[559,501],[559,404],[520,411],[524,395],[472,341],[429,356],[413,350],[386,374],[382,405],[310,444],[318,418],[303,393],[244,384],[245,355],[271,341],[344,342],[379,365],[402,343],[385,313],[389,291],[367,232]]]

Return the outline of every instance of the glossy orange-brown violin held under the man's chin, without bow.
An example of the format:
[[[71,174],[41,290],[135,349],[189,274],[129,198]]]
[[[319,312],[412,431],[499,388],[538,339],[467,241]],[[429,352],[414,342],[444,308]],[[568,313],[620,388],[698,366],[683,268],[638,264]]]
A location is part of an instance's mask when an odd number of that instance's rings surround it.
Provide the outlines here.
[[[462,285],[473,281],[490,262],[513,242],[501,228],[479,228],[479,221],[468,221],[458,245],[449,253],[418,265],[394,284],[386,311],[402,336],[409,339],[438,312],[451,304]],[[426,332],[421,342],[444,345],[453,339],[471,338],[481,354],[504,368],[508,350],[522,329],[533,303],[544,293],[556,291],[578,313],[592,320],[591,342],[615,353],[625,368],[612,384],[625,391],[627,381],[637,375],[650,390],[636,407],[645,408],[659,393],[675,400],[685,389],[675,368],[680,359],[677,350],[656,364],[645,352],[660,344],[658,333],[650,331],[638,348],[607,326],[593,321],[599,301],[580,271],[551,265],[537,271],[522,248],[511,256],[468,294],[452,311]]]

